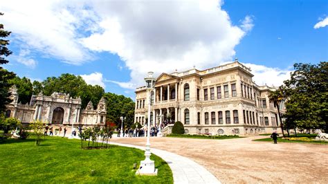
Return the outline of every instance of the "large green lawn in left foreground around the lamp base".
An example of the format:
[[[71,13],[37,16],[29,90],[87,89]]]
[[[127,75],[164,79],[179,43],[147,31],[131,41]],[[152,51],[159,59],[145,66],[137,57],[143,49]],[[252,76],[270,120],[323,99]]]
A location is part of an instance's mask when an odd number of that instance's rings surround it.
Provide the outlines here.
[[[0,183],[173,183],[170,167],[152,154],[158,176],[136,176],[144,151],[111,145],[80,149],[80,140],[46,137],[0,144]],[[95,170],[95,172],[91,172]]]

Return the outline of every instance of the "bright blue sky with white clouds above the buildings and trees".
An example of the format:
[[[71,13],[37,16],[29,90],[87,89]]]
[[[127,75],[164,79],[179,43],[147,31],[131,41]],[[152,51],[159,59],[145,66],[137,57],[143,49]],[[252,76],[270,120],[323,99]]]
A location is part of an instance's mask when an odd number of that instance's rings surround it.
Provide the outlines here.
[[[233,62],[279,86],[295,62],[328,61],[328,1],[0,0],[12,33],[4,68],[42,81],[81,75],[135,99],[154,75]]]

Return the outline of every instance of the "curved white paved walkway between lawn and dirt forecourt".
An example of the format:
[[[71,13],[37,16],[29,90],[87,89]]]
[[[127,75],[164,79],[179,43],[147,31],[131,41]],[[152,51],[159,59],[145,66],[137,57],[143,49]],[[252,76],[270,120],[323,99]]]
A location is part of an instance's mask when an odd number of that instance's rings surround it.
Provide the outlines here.
[[[136,145],[127,145],[117,142],[111,142],[111,144],[145,150],[145,147]],[[156,154],[167,162],[172,170],[174,183],[220,183],[213,174],[189,158],[161,149],[151,148],[150,151],[152,154]]]

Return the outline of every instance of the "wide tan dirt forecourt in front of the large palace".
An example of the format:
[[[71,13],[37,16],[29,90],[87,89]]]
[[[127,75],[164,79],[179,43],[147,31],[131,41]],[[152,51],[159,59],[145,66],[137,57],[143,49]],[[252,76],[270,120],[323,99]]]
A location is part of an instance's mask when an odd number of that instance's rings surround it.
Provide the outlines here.
[[[328,145],[257,142],[250,138],[208,140],[151,138],[151,147],[203,165],[222,183],[328,183]],[[113,138],[144,146],[145,138]]]

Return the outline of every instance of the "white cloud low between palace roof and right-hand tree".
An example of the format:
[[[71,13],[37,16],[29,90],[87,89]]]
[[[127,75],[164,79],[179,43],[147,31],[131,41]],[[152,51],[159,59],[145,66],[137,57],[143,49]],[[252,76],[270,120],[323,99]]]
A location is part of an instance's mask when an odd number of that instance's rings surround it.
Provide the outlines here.
[[[250,67],[254,75],[253,80],[259,86],[268,85],[268,86],[281,86],[284,80],[290,79],[292,72],[287,69],[280,68],[270,68],[263,65],[257,64],[244,64],[247,67]]]

